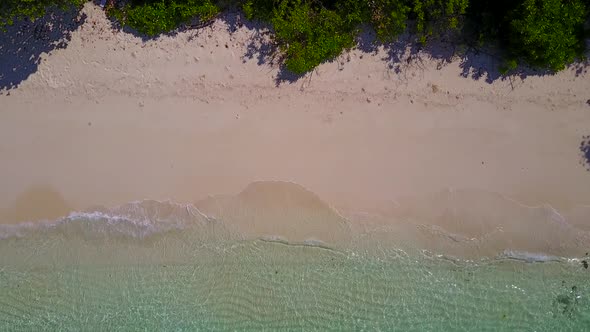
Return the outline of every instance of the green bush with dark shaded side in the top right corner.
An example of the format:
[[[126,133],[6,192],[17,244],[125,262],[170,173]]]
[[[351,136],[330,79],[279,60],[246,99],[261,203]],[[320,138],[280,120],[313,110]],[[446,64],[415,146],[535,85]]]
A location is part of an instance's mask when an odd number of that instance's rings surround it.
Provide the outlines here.
[[[470,0],[467,16],[481,41],[505,51],[505,72],[519,63],[558,71],[583,58],[588,0]]]

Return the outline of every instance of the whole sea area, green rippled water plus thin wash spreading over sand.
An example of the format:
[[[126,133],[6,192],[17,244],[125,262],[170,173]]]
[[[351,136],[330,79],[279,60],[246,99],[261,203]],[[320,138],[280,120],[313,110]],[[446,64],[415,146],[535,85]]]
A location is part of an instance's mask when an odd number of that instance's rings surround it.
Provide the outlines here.
[[[590,326],[582,260],[518,250],[548,235],[584,245],[583,232],[550,207],[478,195],[416,200],[388,215],[404,223],[362,231],[286,183],[258,183],[195,205],[140,201],[2,226],[0,330]],[[508,223],[514,216],[519,223]],[[462,218],[476,226],[461,228]],[[489,243],[512,250],[471,261],[421,250]]]

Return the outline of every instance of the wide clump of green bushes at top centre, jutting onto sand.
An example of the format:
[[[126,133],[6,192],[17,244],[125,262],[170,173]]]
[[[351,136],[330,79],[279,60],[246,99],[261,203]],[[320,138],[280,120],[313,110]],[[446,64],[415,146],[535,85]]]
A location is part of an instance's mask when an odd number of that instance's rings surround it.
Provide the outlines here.
[[[285,65],[304,73],[354,46],[361,24],[378,38],[393,41],[415,22],[421,42],[447,29],[458,29],[467,0],[247,0],[249,19],[270,22]]]

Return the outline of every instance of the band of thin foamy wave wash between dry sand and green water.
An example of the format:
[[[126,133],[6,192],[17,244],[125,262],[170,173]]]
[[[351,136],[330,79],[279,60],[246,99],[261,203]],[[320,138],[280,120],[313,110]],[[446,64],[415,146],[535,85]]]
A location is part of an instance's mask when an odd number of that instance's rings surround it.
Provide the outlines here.
[[[261,181],[233,195],[194,203],[145,199],[76,211],[58,193],[44,189],[21,198],[14,210],[0,211],[0,220],[31,210],[55,217],[2,222],[0,241],[50,238],[57,232],[73,241],[81,236],[135,243],[187,232],[189,238],[198,234],[193,240],[204,244],[262,240],[367,253],[387,249],[525,262],[581,260],[590,247],[590,205],[557,211],[547,204],[527,206],[475,190],[448,190],[359,211],[332,206],[296,183]]]

